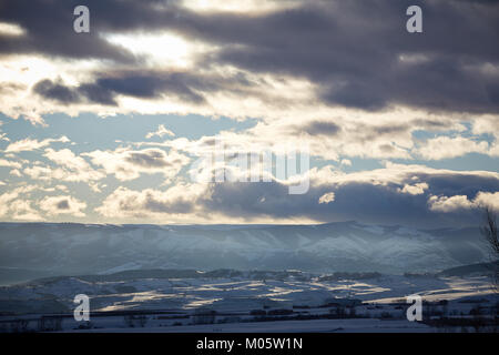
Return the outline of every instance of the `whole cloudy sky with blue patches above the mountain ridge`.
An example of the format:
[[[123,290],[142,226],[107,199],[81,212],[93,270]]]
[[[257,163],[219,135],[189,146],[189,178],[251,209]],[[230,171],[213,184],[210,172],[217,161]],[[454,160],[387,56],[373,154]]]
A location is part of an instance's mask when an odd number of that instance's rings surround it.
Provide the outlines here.
[[[485,0],[0,0],[0,221],[475,225],[499,210],[498,43]],[[192,179],[216,142],[309,166]]]

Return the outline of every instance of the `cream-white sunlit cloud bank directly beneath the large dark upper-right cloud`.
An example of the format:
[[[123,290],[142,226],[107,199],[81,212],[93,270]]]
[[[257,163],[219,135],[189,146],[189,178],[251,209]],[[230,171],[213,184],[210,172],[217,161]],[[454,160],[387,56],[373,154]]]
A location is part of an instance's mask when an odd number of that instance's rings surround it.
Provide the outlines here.
[[[360,123],[350,122],[348,118],[342,116],[332,120],[306,116],[301,119],[301,123],[295,123],[293,119],[285,116],[271,122],[261,122],[243,132],[223,131],[214,136],[205,135],[198,140],[191,141],[185,138],[177,138],[162,143],[146,142],[143,144],[171,146],[198,154],[200,151],[213,151],[215,141],[220,141],[231,151],[262,152],[296,149],[293,145],[296,145],[295,142],[298,140],[302,146],[309,148],[312,156],[324,160],[340,161],[346,156],[413,159],[410,151],[415,143],[411,130],[417,130],[419,125],[415,124],[413,129],[407,129],[404,132],[397,130],[396,133],[375,134],[374,132],[390,123],[396,124],[396,118],[390,114],[370,113],[363,115],[361,120]],[[364,121],[381,121],[384,124],[367,124]],[[418,120],[416,121],[418,122]],[[408,123],[410,124],[411,121],[408,120]],[[360,124],[363,125],[361,129],[359,129]],[[340,130],[336,129],[338,125],[342,126]],[[316,129],[316,131],[310,131],[310,128]],[[332,130],[332,128],[334,129]],[[302,134],[306,130],[315,132],[315,135]],[[333,131],[335,133],[330,134]],[[324,134],[320,134],[320,132]],[[210,142],[212,144],[208,144]]]

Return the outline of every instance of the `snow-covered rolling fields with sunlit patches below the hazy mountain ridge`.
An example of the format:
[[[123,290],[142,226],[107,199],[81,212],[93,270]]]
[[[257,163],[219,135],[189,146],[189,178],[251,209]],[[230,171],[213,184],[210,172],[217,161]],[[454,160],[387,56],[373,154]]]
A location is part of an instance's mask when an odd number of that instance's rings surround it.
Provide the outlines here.
[[[499,301],[486,276],[339,277],[231,270],[182,278],[149,278],[147,271],[136,275],[55,277],[0,287],[0,312],[23,314],[4,315],[0,322],[65,314],[60,331],[435,332],[406,320],[406,296],[422,296],[426,317],[469,317],[472,310],[490,317]],[[78,329],[81,324],[72,318],[77,294],[91,300],[90,329]]]

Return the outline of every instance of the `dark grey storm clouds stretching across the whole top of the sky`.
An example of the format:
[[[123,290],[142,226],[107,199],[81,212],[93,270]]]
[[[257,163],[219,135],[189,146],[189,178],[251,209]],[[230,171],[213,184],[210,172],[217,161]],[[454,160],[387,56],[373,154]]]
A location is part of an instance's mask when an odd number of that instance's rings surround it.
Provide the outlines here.
[[[40,52],[135,62],[102,31],[166,29],[217,44],[200,68],[240,69],[305,78],[324,102],[365,110],[405,104],[427,110],[499,112],[499,79],[480,69],[499,63],[496,1],[304,1],[267,13],[200,12],[159,1],[1,1],[0,20],[19,23],[22,38],[2,38],[0,53]],[[91,33],[72,31],[72,9],[91,9]],[[424,11],[424,33],[406,31],[408,6]],[[403,55],[403,57],[401,57]],[[400,60],[404,58],[404,60]],[[98,87],[149,98],[172,90],[202,101],[175,78],[101,79]],[[212,85],[198,88],[211,91]],[[109,98],[98,95],[102,102]]]

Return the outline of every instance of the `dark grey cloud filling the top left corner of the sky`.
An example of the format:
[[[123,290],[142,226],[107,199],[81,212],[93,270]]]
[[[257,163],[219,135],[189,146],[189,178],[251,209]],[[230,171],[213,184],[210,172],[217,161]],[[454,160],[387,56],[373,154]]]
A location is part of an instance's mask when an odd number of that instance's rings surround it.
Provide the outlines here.
[[[17,23],[27,32],[20,38],[0,36],[0,53],[43,53],[134,62],[136,59],[128,49],[110,44],[100,33],[160,27],[167,20],[167,14],[155,11],[154,3],[157,1],[0,0],[0,21]],[[90,9],[90,33],[75,33],[73,30],[73,9],[80,4]]]

